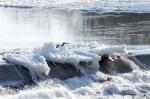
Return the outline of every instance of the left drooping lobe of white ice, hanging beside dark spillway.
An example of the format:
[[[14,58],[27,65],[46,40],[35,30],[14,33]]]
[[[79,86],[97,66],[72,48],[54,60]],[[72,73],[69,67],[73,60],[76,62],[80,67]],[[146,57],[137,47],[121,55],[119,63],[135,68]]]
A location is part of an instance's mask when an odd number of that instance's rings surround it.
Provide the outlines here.
[[[50,72],[50,68],[45,61],[45,58],[40,55],[35,55],[31,53],[8,53],[4,55],[4,59],[14,64],[26,67],[30,71],[33,80],[37,80],[37,76],[42,78],[43,76],[48,75]]]

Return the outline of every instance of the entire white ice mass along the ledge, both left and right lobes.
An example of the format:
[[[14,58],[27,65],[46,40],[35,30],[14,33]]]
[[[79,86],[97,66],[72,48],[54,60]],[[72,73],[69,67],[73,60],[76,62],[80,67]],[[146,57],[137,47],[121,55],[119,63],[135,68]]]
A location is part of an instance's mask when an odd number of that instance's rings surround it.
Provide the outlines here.
[[[4,58],[14,64],[24,66],[30,70],[32,77],[48,75],[50,67],[46,60],[56,63],[69,63],[76,69],[99,70],[99,60],[104,54],[119,55],[126,54],[125,46],[106,46],[97,42],[65,44],[56,48],[57,44],[45,43],[41,48],[25,53],[6,53]],[[89,71],[88,71],[89,72]]]

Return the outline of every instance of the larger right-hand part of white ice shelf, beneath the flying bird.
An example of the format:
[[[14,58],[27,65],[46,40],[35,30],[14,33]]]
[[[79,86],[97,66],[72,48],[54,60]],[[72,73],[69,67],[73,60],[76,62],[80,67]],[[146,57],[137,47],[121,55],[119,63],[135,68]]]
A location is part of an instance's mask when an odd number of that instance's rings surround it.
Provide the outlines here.
[[[37,52],[52,62],[70,63],[77,68],[84,66],[97,71],[102,55],[127,54],[125,46],[111,47],[97,42],[66,44],[58,48],[51,42],[45,43]]]

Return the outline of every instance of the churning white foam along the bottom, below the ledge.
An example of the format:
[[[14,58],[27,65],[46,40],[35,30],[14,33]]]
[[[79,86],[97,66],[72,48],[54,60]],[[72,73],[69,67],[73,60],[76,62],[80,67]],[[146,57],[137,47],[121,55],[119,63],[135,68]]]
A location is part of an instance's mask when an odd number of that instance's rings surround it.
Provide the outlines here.
[[[139,72],[139,71],[138,71]],[[142,72],[139,72],[142,73]],[[144,73],[146,75],[147,73]],[[105,74],[102,74],[105,75]],[[128,73],[132,75],[132,73]],[[108,75],[105,75],[106,77]],[[101,75],[97,75],[101,77]],[[34,88],[16,94],[0,96],[1,99],[148,99],[149,83],[128,81],[122,76],[111,76],[111,81],[95,82],[91,77],[74,77],[66,81],[57,79],[39,82]],[[139,77],[140,78],[140,77]],[[149,79],[149,78],[148,78]],[[149,79],[150,80],[150,79]],[[141,93],[144,92],[144,93]]]

